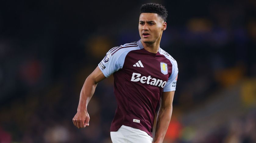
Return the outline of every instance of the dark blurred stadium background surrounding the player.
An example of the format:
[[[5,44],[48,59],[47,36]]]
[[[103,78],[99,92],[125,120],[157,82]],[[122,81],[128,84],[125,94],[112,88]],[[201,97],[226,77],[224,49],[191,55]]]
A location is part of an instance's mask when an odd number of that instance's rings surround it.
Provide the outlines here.
[[[108,143],[113,77],[72,122],[87,76],[112,47],[138,41],[141,4],[168,10],[160,47],[179,78],[164,143],[256,142],[256,1],[0,2],[0,143]]]

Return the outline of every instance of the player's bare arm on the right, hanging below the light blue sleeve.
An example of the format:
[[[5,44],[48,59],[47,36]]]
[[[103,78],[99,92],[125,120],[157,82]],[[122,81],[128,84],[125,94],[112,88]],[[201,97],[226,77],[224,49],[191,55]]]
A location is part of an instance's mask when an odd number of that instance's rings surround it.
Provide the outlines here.
[[[175,91],[163,92],[157,115],[154,143],[162,143],[172,117],[172,101]]]

